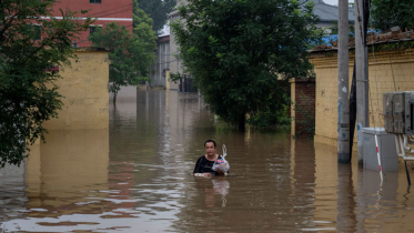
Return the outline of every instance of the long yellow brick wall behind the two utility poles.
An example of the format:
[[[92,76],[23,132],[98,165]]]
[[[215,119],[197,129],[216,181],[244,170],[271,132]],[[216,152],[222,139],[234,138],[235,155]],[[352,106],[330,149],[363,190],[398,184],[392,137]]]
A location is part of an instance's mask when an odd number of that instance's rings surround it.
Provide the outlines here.
[[[375,57],[375,58],[374,58]],[[315,142],[336,145],[337,136],[337,58],[336,52],[311,53],[316,73]],[[375,61],[375,62],[374,62]],[[350,51],[350,87],[354,54]],[[394,77],[394,78],[393,78]],[[380,51],[368,54],[370,125],[383,126],[382,94],[414,90],[414,49]],[[395,85],[394,85],[395,79]],[[395,88],[394,88],[395,87]],[[350,90],[350,89],[349,89]],[[377,90],[377,91],[376,91]],[[355,131],[356,135],[356,131]],[[356,142],[356,136],[354,136]]]

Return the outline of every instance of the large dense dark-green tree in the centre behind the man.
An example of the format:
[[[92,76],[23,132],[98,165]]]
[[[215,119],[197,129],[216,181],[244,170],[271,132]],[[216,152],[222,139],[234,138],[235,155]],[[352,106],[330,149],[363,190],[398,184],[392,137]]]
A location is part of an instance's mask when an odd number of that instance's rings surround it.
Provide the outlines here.
[[[312,75],[306,49],[321,38],[314,3],[189,0],[172,23],[180,55],[211,110],[244,129],[245,115],[282,101],[280,79]]]

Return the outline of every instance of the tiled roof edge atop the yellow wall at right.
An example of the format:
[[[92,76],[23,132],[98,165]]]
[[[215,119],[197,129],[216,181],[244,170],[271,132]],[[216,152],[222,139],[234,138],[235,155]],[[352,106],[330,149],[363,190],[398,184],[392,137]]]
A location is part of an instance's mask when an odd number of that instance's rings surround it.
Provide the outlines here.
[[[414,40],[414,31],[402,32],[398,31],[388,31],[385,33],[367,33],[366,44],[381,44],[381,43],[395,43],[401,41],[412,41]],[[350,38],[350,49],[355,48],[355,38]],[[330,51],[337,50],[337,40],[332,42],[332,45],[320,44],[314,47],[309,52],[319,52],[319,51]]]

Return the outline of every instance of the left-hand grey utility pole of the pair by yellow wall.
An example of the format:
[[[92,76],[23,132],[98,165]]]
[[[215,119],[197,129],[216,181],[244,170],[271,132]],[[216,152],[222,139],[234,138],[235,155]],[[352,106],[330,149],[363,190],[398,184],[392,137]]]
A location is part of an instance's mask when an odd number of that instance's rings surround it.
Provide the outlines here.
[[[350,163],[349,3],[339,0],[337,162]]]

